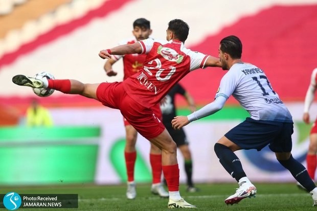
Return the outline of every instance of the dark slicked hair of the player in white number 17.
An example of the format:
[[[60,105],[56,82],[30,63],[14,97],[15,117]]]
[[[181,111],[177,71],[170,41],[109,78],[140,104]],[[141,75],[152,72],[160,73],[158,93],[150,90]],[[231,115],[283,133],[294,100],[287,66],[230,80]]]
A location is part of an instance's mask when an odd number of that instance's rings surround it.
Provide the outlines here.
[[[240,59],[242,54],[242,43],[238,37],[231,35],[220,41],[220,50],[223,53],[229,54],[233,59]]]

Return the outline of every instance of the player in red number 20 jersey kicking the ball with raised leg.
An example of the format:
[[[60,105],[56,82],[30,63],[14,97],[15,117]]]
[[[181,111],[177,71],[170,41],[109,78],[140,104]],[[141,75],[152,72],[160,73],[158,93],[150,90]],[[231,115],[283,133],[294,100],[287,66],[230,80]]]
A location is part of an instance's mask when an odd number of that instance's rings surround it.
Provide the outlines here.
[[[123,82],[84,84],[77,80],[41,80],[16,75],[13,83],[33,88],[52,88],[63,93],[82,95],[100,101],[110,108],[120,109],[126,120],[151,143],[162,150],[162,169],[169,190],[169,208],[193,208],[179,193],[179,169],[176,144],[152,107],[188,73],[207,66],[220,67],[219,58],[186,49],[184,42],[189,27],[183,20],[168,24],[166,40],[146,39],[134,44],[102,50],[99,56],[147,54],[141,71]]]

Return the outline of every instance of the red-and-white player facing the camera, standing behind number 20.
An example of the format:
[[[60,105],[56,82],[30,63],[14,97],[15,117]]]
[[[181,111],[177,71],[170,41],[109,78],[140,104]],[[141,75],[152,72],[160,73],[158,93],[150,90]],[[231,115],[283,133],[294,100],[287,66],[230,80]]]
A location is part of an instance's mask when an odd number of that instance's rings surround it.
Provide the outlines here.
[[[149,38],[152,30],[150,27],[150,21],[145,18],[138,18],[133,22],[133,31],[132,34],[134,38],[124,40],[120,44],[133,44],[135,42]],[[139,73],[143,62],[145,61],[145,54],[127,54],[127,55],[111,55],[111,58],[108,59],[104,65],[104,69],[107,73],[107,76],[116,76],[117,72],[112,69],[112,65],[115,64],[118,60],[122,58],[123,60],[123,80]],[[160,110],[160,105],[157,104],[153,107],[153,111],[156,116],[162,119],[162,114]],[[126,132],[126,144],[124,148],[124,157],[127,168],[127,192],[126,196],[128,199],[134,199],[137,196],[135,191],[135,182],[134,182],[134,165],[137,158],[137,152],[135,151],[135,144],[137,143],[138,131],[135,130],[130,123],[123,118],[124,127]],[[158,194],[161,197],[168,197],[168,192],[164,190],[164,187],[161,183],[162,176],[162,152],[155,145],[151,144],[150,149],[150,163],[152,168],[152,187],[151,192],[153,194]]]

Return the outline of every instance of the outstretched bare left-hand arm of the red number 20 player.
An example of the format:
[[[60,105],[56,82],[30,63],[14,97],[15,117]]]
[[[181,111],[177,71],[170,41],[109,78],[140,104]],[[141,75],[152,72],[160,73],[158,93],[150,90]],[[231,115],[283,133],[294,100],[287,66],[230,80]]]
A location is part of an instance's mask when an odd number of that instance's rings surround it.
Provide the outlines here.
[[[110,59],[111,55],[125,55],[125,54],[141,54],[142,46],[140,42],[135,42],[133,44],[123,44],[118,45],[115,48],[101,50],[99,56],[102,59]]]

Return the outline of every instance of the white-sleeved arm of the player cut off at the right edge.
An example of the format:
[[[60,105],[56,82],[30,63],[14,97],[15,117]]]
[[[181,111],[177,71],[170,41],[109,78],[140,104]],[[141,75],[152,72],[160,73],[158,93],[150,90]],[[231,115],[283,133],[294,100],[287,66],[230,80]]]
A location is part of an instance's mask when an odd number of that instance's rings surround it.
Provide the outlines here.
[[[304,114],[303,114],[303,121],[306,124],[309,124],[309,108],[312,104],[312,101],[314,99],[314,93],[316,91],[316,73],[317,69],[314,69],[312,75],[311,75],[311,82],[309,84],[308,90],[306,92],[306,97],[305,97],[305,103],[304,103]]]

